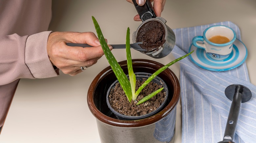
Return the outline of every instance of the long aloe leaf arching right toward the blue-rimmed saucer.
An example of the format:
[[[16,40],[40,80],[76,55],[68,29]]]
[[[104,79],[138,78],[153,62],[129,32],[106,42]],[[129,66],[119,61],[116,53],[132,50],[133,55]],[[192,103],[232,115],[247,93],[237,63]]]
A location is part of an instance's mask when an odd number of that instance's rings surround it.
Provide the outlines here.
[[[184,56],[181,56],[173,61],[171,61],[170,63],[166,64],[165,66],[161,67],[159,70],[157,70],[156,72],[154,72],[140,87],[139,89],[136,91],[135,95],[136,95],[136,98],[137,96],[139,95],[140,91],[150,83],[150,81],[152,81],[159,73],[161,73],[162,71],[164,71],[165,69],[167,69],[168,67],[170,67],[171,65],[173,65],[174,63],[178,62],[179,60],[185,58],[186,56],[192,54],[194,51],[184,55]]]

